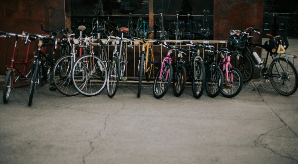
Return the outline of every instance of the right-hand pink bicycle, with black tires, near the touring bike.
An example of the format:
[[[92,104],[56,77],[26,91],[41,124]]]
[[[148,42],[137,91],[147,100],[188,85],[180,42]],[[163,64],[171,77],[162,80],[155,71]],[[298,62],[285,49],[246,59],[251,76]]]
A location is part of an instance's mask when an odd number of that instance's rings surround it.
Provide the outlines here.
[[[221,62],[219,66],[223,70],[225,83],[225,88],[223,87],[223,89],[221,90],[221,94],[224,97],[232,98],[240,93],[243,86],[243,77],[239,70],[232,67],[232,64],[230,63],[231,54],[237,57],[240,57],[240,55],[237,54],[237,52],[235,53],[233,51],[230,51],[226,47],[221,47],[219,48],[219,50],[219,52],[221,53]]]

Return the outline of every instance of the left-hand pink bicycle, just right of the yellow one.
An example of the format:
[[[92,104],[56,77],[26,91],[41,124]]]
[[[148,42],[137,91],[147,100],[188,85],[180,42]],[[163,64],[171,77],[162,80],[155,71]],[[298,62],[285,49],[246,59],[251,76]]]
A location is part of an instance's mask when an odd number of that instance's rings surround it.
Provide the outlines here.
[[[156,40],[160,45],[168,48],[167,56],[162,60],[162,65],[159,68],[157,76],[153,84],[153,94],[157,99],[162,98],[170,88],[172,78],[173,78],[173,67],[172,67],[172,52],[175,47],[168,45],[166,42]]]

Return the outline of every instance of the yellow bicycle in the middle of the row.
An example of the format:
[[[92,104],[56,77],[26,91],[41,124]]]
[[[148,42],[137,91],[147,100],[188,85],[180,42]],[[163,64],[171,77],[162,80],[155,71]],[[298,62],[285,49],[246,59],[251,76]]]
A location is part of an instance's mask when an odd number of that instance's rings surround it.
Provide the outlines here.
[[[150,35],[151,33],[153,33],[153,30],[148,29],[147,33]],[[138,70],[137,70],[137,76],[139,78],[135,79],[139,81],[138,93],[137,93],[137,97],[139,98],[141,96],[143,77],[145,76],[146,80],[150,81],[151,73],[153,70],[153,64],[157,64],[157,61],[154,61],[153,50],[150,44],[150,43],[153,43],[153,40],[130,37],[130,36],[127,36],[127,37],[131,38],[132,40],[135,40],[134,41],[135,45],[139,45],[139,43],[142,43],[142,50],[139,53],[139,64],[138,64]]]

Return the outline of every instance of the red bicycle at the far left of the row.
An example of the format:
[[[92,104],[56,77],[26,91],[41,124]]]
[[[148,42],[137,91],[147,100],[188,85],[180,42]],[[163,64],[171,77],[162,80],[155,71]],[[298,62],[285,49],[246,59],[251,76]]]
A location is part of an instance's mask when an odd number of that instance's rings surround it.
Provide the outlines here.
[[[15,46],[14,46],[13,56],[11,58],[10,68],[7,68],[7,74],[6,74],[4,86],[3,86],[3,102],[7,103],[9,100],[9,97],[10,97],[11,89],[13,89],[13,84],[15,83],[15,81],[17,81],[18,79],[21,81],[21,80],[23,80],[22,78],[27,78],[32,71],[32,70],[30,70],[29,72],[26,73],[27,64],[32,63],[32,61],[33,61],[33,59],[28,58],[31,40],[35,40],[36,37],[32,37],[32,35],[26,35],[26,34],[20,35],[20,34],[13,34],[13,33],[2,32],[2,31],[0,31],[0,34],[5,34],[5,35],[1,36],[1,37],[5,37],[5,38],[15,37]],[[19,37],[23,38],[22,40],[25,40],[25,46],[27,46],[27,44],[28,44],[26,59],[25,59],[25,61],[21,61],[21,62],[15,61],[15,54],[16,54],[17,42],[18,42]],[[20,64],[24,65],[23,70],[19,70],[16,67],[16,65],[20,65]],[[17,71],[19,73],[19,75],[16,79],[15,79],[15,71]]]

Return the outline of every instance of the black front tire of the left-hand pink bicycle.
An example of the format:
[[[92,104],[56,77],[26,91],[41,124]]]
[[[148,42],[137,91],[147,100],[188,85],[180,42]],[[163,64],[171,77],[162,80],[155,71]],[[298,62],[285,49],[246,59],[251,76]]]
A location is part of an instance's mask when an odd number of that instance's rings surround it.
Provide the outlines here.
[[[170,88],[170,85],[171,85],[171,82],[172,82],[172,78],[173,78],[173,67],[172,67],[172,65],[170,63],[165,63],[164,64],[164,69],[163,69],[162,76],[165,75],[164,72],[165,72],[166,68],[169,69],[169,74],[170,75],[168,76],[167,86],[164,88],[164,90],[160,94],[159,94],[159,91],[160,90],[158,90],[156,88],[157,80],[159,79],[159,73],[161,71],[160,68],[159,68],[159,71],[156,74],[156,78],[154,80],[154,84],[153,84],[153,95],[157,99],[160,99],[160,98],[164,97],[164,95],[167,93],[168,89]],[[159,80],[159,81],[162,81],[162,80]],[[164,83],[165,82],[166,81],[164,80]],[[158,93],[156,93],[156,92],[158,92]]]

